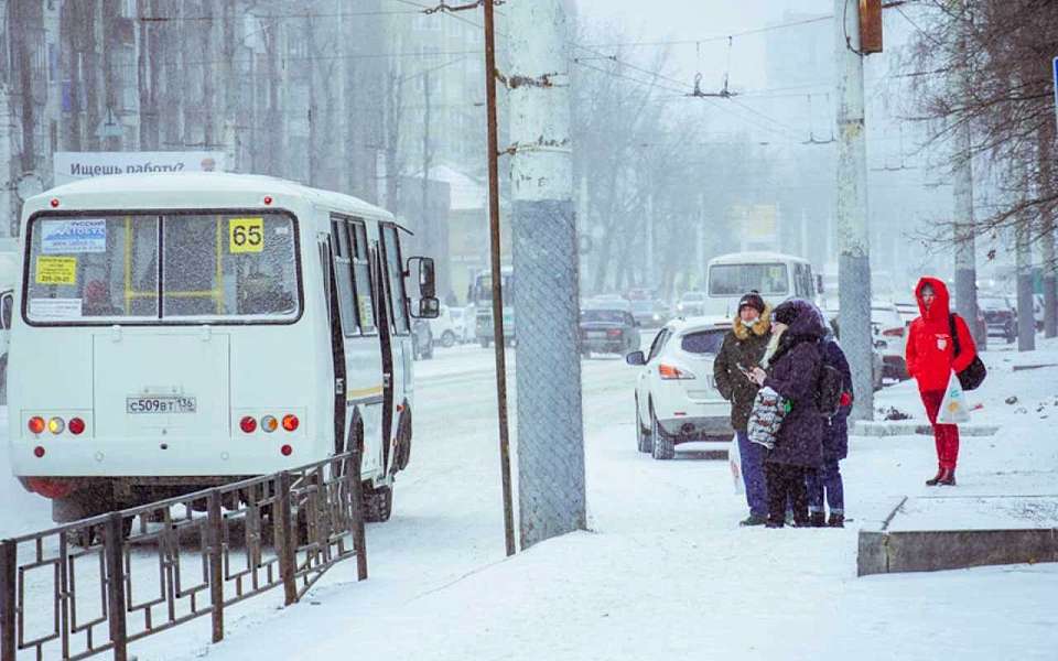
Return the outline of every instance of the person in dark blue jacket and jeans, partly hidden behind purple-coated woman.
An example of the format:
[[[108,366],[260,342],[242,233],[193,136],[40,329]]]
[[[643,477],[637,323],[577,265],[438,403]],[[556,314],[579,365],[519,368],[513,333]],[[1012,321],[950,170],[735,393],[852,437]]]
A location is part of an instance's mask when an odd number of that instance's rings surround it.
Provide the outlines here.
[[[808,513],[813,528],[845,525],[845,489],[839,462],[849,456],[849,413],[852,411],[852,370],[838,342],[828,336],[819,345],[823,365],[841,372],[841,407],[823,419],[823,465],[808,473]],[[823,497],[830,507],[830,520],[823,511]]]

